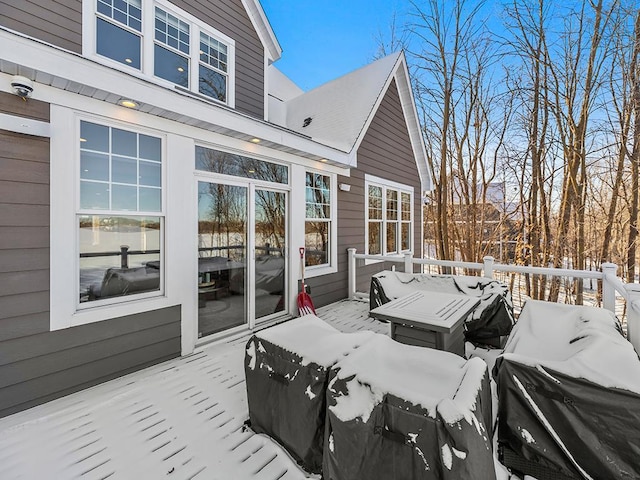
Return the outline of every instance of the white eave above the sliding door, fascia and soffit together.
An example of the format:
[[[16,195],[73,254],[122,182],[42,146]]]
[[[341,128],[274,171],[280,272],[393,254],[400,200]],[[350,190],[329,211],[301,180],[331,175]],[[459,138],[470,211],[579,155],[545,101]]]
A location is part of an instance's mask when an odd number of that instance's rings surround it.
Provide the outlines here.
[[[265,147],[315,161],[326,159],[338,167],[351,162],[349,154],[313,141],[304,133],[158,85],[141,75],[101,65],[2,27],[0,44],[3,45],[0,72],[31,78],[36,82],[36,91],[41,83],[113,104],[121,98],[132,98],[143,113],[241,140],[258,137]]]

